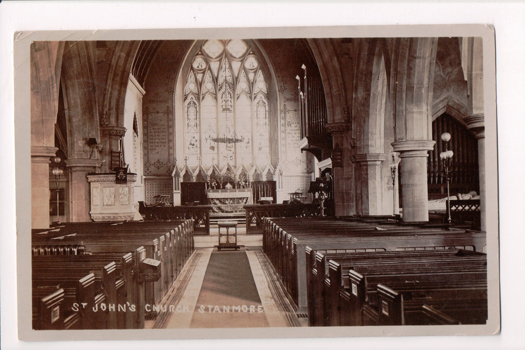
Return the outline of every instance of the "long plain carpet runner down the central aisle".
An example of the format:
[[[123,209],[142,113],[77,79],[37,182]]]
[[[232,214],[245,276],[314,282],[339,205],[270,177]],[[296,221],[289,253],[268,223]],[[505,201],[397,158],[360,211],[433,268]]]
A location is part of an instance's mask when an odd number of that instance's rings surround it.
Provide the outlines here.
[[[268,326],[246,252],[212,252],[191,327]]]

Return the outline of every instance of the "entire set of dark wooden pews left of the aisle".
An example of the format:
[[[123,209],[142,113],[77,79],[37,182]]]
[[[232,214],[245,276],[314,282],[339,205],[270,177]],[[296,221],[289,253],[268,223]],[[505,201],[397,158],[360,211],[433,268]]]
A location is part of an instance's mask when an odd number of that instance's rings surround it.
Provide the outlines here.
[[[143,328],[194,250],[192,220],[31,232],[33,328]]]

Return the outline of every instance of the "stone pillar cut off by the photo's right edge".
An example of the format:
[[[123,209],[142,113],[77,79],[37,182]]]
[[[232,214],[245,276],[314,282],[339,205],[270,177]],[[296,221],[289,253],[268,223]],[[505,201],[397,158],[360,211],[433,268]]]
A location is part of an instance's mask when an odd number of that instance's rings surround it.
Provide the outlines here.
[[[464,118],[467,128],[474,132],[478,140],[478,167],[479,167],[479,210],[481,214],[481,231],[486,231],[487,212],[485,195],[485,116],[471,115]]]

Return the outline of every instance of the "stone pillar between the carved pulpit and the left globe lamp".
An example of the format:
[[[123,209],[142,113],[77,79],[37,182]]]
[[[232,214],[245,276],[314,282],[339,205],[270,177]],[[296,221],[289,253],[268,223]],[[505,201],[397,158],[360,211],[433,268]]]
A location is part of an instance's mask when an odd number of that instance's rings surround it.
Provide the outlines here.
[[[90,190],[87,175],[102,165],[98,159],[74,158],[66,160],[69,168],[69,207],[71,222],[91,221]]]

